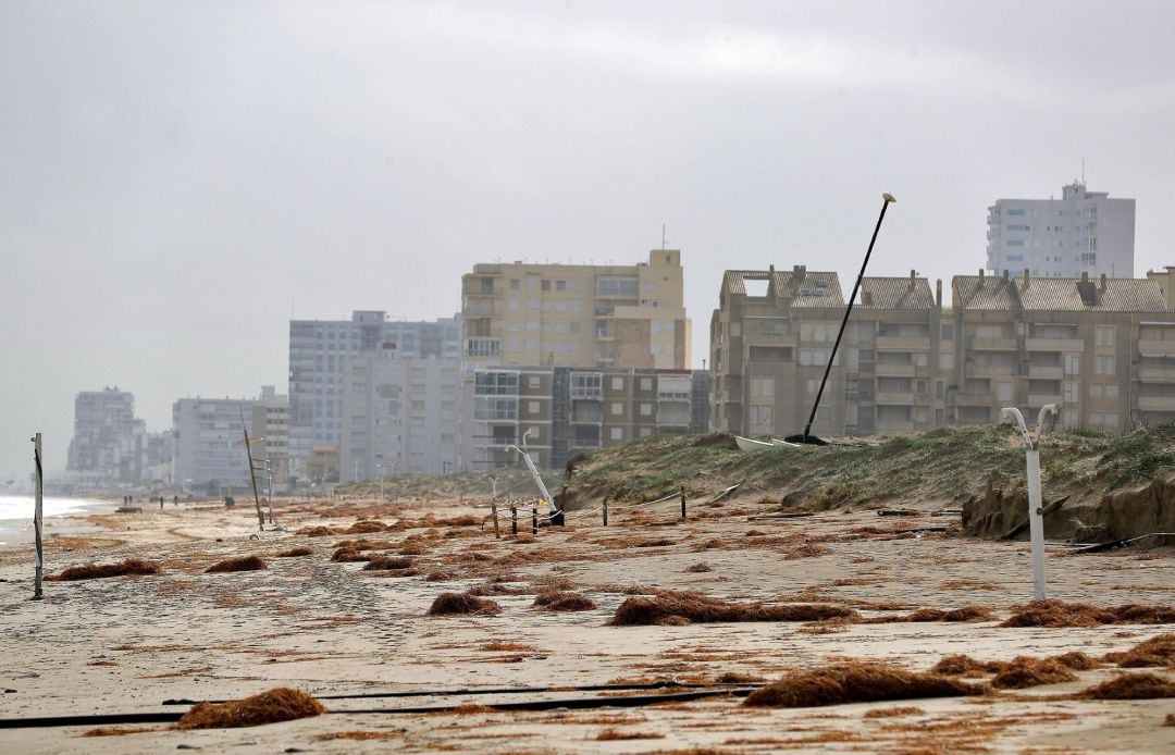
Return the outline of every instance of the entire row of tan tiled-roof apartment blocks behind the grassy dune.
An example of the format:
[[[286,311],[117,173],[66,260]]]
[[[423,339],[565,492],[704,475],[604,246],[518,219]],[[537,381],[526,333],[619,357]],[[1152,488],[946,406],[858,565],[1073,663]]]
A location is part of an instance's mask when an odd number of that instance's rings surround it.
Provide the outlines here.
[[[806,297],[805,281],[820,282]],[[801,431],[844,316],[835,275],[728,271],[719,299],[714,429]],[[813,432],[993,423],[1006,406],[1034,417],[1052,403],[1069,427],[1175,418],[1175,314],[1157,281],[981,270],[953,278],[952,304],[914,272],[865,278]]]

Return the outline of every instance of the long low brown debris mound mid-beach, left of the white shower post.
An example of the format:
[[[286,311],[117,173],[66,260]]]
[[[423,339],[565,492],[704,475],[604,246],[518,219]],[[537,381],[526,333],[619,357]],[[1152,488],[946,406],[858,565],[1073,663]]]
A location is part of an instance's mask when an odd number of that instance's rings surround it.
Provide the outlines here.
[[[629,598],[616,609],[612,626],[711,623],[718,621],[819,621],[859,618],[852,608],[833,605],[764,606],[733,604],[696,592],[659,591]]]

